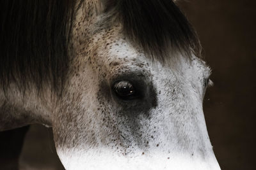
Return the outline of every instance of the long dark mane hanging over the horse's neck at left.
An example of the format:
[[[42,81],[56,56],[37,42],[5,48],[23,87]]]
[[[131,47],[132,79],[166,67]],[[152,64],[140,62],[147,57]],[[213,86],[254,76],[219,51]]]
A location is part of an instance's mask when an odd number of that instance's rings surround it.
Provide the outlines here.
[[[61,89],[67,74],[67,46],[74,20],[73,0],[0,1],[0,87],[15,81],[38,89]],[[28,81],[29,80],[29,81]]]

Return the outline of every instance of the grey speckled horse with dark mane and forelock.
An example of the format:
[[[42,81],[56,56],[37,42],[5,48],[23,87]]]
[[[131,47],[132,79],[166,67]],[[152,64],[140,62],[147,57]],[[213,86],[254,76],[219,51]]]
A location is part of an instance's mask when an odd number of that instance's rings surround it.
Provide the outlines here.
[[[65,169],[220,169],[210,75],[176,1],[1,1],[0,130],[52,127]]]

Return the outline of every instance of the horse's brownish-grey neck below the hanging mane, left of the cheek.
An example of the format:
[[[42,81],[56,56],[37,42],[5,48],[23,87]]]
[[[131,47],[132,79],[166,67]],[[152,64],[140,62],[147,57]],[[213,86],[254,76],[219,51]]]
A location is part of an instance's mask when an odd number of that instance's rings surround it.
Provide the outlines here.
[[[51,126],[54,104],[50,90],[38,95],[34,87],[25,91],[13,84],[5,91],[0,87],[0,131],[28,124]]]

